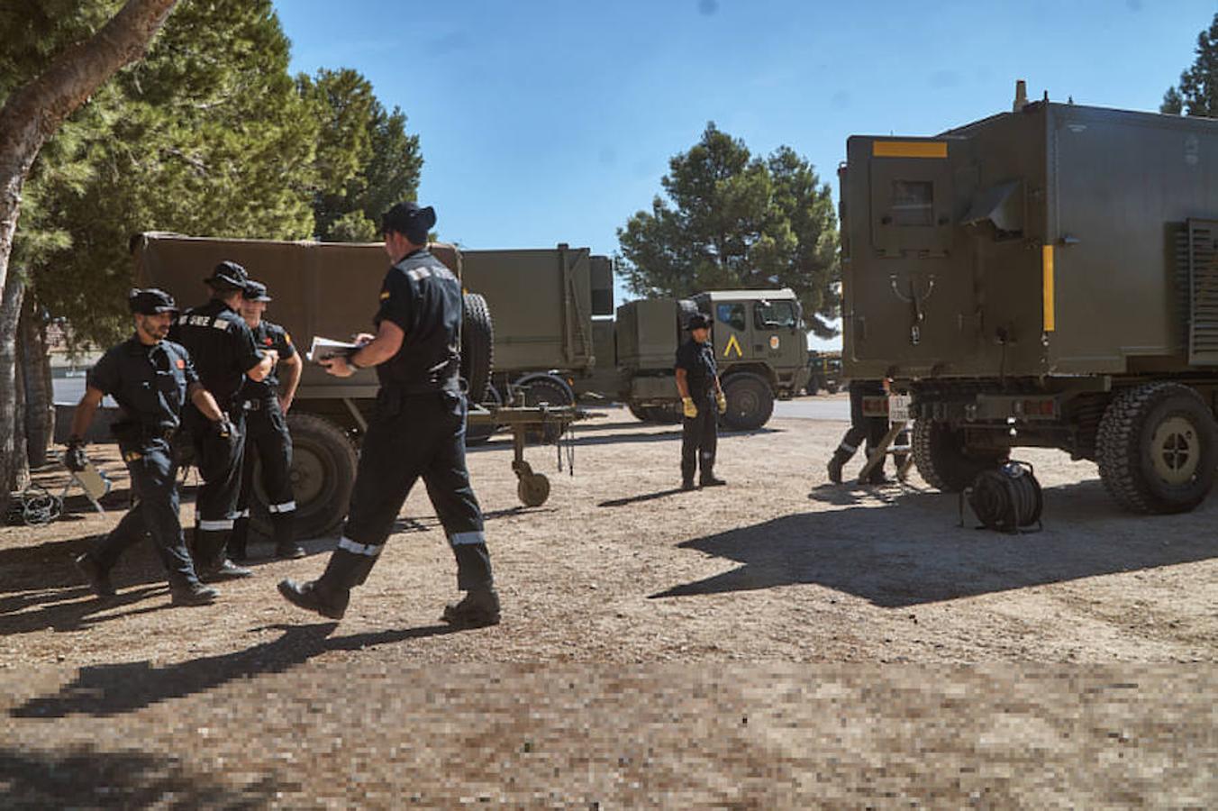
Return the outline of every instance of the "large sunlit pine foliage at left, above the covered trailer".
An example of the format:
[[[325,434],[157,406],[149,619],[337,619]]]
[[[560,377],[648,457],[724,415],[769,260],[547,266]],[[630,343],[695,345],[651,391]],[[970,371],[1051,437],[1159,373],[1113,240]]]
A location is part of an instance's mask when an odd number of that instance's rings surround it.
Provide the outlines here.
[[[107,343],[127,329],[133,234],[309,236],[318,124],[287,62],[270,0],[183,2],[40,156],[17,234],[39,303]]]

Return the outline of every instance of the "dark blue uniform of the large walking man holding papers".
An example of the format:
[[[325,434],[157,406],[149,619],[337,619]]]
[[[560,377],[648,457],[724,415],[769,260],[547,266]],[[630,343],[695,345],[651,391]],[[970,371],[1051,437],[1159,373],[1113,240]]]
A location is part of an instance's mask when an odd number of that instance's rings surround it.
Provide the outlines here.
[[[465,468],[460,283],[420,248],[385,276],[374,320],[378,328],[384,320],[397,324],[406,337],[397,354],[376,367],[376,414],[361,447],[342,538],[320,582],[343,592],[364,582],[421,476],[457,558],[457,587],[490,591],[482,513]]]

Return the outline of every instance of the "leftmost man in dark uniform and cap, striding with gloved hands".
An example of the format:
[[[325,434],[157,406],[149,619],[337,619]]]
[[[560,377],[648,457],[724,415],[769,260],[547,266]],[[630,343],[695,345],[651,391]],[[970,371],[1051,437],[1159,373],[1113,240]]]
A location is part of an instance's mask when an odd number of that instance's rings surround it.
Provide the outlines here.
[[[112,430],[136,502],[110,535],[76,559],[76,565],[99,597],[112,597],[110,570],[128,547],[147,535],[169,576],[173,604],[205,605],[219,593],[199,582],[186,552],[178,522],[178,466],[169,440],[186,401],[208,420],[217,437],[231,435],[233,425],[200,385],[186,351],[164,340],[177,313],[173,298],[161,290],[132,290],[127,304],[134,314],[135,334],[106,352],[89,371],[63,462],[69,470],[84,470],[88,459],[82,437],[102,397],[113,396],[122,419]]]

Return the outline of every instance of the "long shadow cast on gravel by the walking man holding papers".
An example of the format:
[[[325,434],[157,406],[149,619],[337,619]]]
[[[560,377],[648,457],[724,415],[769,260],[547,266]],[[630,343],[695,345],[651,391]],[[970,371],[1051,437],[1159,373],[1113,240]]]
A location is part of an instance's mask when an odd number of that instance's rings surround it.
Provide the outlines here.
[[[448,625],[429,625],[331,638],[337,625],[270,626],[284,631],[273,642],[164,667],[153,667],[147,661],[82,667],[76,679],[61,687],[57,694],[30,699],[10,715],[18,718],[122,715],[157,701],[202,693],[238,678],[280,673],[330,650],[359,650],[462,631]]]

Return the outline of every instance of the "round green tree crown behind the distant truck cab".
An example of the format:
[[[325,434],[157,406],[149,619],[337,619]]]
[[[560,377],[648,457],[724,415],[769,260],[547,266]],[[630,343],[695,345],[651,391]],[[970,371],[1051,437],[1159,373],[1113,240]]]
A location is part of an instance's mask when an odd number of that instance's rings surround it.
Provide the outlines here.
[[[706,125],[702,140],[669,161],[657,196],[618,229],[627,286],[641,296],[787,286],[808,325],[831,336],[838,311],[837,217],[812,166],[782,146],[754,157],[744,142]],[[671,202],[671,206],[670,206]]]

